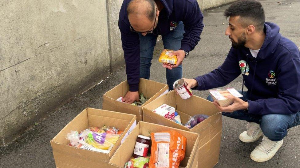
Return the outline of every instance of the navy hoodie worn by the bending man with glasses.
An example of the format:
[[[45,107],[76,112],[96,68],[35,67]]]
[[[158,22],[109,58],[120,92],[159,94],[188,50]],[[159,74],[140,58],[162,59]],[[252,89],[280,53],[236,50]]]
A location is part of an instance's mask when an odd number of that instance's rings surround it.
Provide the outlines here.
[[[120,15],[119,28],[122,47],[126,63],[126,74],[130,91],[138,91],[140,81],[140,40],[136,32],[130,31],[127,17],[127,6],[130,0],[124,0]],[[184,24],[184,38],[181,40],[181,50],[187,52],[194,49],[200,40],[203,30],[203,14],[196,0],[160,0],[164,9],[158,17],[157,27],[153,33],[166,34],[176,28],[182,21]]]

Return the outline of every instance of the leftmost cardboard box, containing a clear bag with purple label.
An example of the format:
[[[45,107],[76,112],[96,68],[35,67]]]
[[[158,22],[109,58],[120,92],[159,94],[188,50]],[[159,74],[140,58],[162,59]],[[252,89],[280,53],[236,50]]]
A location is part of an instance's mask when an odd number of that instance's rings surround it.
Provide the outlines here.
[[[103,125],[118,128],[120,131],[124,130],[124,133],[120,136],[109,153],[89,151],[68,146],[70,141],[67,140],[65,136],[67,133],[70,133],[71,130],[80,132],[90,126],[102,127]],[[109,159],[135,126],[135,115],[86,108],[50,141],[56,167],[109,166]]]

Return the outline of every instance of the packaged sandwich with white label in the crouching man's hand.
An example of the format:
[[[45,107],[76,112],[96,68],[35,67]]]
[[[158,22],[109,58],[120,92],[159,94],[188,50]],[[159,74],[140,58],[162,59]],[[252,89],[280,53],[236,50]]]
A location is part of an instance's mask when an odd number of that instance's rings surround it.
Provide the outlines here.
[[[211,94],[212,99],[214,99],[221,107],[227,107],[234,102],[234,100],[227,98],[228,95],[243,97],[243,95],[234,88],[210,90],[209,93]]]

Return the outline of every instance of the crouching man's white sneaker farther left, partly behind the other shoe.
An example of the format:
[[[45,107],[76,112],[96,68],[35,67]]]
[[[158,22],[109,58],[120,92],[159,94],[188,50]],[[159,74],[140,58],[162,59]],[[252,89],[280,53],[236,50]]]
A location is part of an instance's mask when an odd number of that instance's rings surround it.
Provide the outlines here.
[[[262,129],[260,129],[259,124],[255,122],[248,122],[247,131],[244,131],[239,135],[239,140],[242,142],[255,142],[263,135]]]

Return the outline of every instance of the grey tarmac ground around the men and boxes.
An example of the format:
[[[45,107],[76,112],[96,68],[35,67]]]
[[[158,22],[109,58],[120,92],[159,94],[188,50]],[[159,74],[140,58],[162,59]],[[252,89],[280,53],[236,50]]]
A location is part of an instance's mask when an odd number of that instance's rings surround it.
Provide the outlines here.
[[[261,2],[266,11],[266,20],[278,24],[281,27],[282,35],[300,47],[300,1],[284,0],[277,3],[278,1],[262,0]],[[203,12],[206,26],[201,35],[201,41],[191,52],[189,58],[184,60],[184,77],[193,78],[202,75],[223,63],[231,47],[228,37],[224,35],[228,22],[223,17],[226,7]],[[150,78],[166,83],[165,69],[157,61],[162,49],[162,43],[157,43]],[[101,84],[78,95],[68,104],[50,114],[12,144],[0,148],[0,167],[55,167],[49,141],[86,107],[101,108],[102,95],[124,80],[126,80],[126,73],[122,68]],[[241,89],[242,78],[238,77],[228,86]],[[207,91],[195,91],[194,93],[204,98],[208,95]],[[256,163],[250,159],[251,151],[261,139],[249,144],[240,142],[238,136],[245,128],[245,121],[223,117],[220,158],[215,167],[300,167],[299,127],[290,129],[288,142],[280,155],[278,165],[279,152],[273,159],[263,163]],[[285,144],[286,138],[283,146]],[[283,149],[283,146],[279,151]]]

